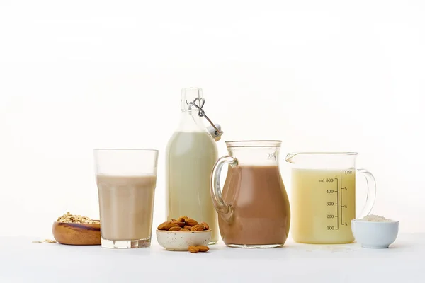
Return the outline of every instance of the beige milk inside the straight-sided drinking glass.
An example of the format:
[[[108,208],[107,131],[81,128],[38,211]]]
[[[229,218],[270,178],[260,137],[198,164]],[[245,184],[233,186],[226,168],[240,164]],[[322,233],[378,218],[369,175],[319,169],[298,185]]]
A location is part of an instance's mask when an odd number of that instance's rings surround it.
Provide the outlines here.
[[[150,239],[157,177],[97,175],[96,182],[102,238]]]

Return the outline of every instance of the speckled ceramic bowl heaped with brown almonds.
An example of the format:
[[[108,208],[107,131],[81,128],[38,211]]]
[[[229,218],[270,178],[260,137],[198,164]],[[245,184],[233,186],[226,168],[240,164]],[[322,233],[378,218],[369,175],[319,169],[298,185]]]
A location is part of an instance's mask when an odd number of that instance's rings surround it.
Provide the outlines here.
[[[187,216],[166,221],[157,229],[157,241],[166,250],[187,251],[190,246],[207,246],[210,240],[210,226]]]

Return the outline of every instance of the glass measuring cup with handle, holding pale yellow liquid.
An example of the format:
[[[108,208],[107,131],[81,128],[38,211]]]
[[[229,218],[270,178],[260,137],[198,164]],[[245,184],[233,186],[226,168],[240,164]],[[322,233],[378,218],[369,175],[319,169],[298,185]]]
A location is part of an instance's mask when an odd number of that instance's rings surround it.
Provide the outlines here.
[[[356,152],[290,153],[291,233],[299,243],[351,243],[351,219],[366,216],[375,202],[372,173],[356,169]],[[365,206],[356,215],[356,175],[368,183]]]

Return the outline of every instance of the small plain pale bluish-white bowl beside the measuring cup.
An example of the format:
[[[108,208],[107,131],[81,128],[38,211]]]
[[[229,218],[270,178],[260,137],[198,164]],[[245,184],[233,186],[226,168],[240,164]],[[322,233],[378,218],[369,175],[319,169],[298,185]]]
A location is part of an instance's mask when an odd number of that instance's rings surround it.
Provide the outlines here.
[[[363,248],[388,248],[398,235],[399,222],[351,220],[351,231]]]

